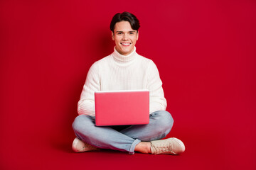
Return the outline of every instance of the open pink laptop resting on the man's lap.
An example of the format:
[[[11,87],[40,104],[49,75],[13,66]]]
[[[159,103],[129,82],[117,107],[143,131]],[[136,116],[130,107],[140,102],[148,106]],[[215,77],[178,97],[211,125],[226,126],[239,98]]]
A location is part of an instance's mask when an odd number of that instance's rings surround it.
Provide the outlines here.
[[[97,126],[149,123],[149,91],[96,91]]]

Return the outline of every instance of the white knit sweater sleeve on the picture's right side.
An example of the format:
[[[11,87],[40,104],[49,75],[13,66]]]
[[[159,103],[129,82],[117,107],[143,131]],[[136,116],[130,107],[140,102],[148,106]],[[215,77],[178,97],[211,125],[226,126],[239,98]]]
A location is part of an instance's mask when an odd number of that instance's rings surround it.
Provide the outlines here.
[[[159,71],[154,62],[149,63],[149,74],[147,80],[147,88],[149,89],[149,112],[165,111],[166,98],[164,98],[164,90],[162,81],[159,76]]]

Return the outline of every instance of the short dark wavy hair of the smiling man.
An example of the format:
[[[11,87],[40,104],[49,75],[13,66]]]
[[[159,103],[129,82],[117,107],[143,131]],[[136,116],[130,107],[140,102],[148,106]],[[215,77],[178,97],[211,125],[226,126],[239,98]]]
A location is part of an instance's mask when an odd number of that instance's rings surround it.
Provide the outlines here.
[[[113,16],[112,21],[110,23],[110,30],[114,33],[114,26],[116,23],[121,21],[128,21],[131,24],[133,30],[139,30],[139,20],[134,14],[129,12],[117,13]]]

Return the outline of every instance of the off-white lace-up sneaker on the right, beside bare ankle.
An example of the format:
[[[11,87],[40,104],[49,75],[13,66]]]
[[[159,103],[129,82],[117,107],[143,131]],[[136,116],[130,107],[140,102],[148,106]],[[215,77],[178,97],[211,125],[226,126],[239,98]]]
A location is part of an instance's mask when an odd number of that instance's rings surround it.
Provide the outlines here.
[[[154,140],[150,143],[151,154],[181,154],[185,151],[183,142],[175,137],[166,140]]]

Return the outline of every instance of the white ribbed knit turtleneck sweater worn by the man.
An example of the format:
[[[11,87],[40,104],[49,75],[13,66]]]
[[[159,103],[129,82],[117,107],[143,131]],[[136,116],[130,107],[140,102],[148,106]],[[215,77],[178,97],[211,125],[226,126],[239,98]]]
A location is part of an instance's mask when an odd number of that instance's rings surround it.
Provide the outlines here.
[[[78,101],[78,114],[95,116],[95,91],[149,90],[149,113],[165,111],[166,99],[156,64],[134,51],[120,55],[117,50],[92,64]]]

